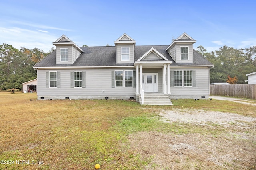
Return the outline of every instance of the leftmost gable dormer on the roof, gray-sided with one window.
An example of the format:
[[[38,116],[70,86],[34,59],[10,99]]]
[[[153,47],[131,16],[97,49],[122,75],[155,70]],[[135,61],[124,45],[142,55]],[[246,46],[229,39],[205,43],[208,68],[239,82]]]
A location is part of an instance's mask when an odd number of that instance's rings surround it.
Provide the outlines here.
[[[56,64],[73,64],[84,52],[66,35],[62,35],[52,44],[56,46]]]

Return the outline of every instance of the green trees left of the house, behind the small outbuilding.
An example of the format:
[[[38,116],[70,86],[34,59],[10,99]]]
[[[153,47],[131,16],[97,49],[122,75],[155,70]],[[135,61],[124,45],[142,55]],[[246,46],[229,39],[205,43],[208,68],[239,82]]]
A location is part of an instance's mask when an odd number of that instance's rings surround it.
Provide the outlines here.
[[[45,53],[38,48],[18,50],[12,45],[0,45],[0,90],[22,89],[21,83],[36,78],[33,66],[53,50]]]

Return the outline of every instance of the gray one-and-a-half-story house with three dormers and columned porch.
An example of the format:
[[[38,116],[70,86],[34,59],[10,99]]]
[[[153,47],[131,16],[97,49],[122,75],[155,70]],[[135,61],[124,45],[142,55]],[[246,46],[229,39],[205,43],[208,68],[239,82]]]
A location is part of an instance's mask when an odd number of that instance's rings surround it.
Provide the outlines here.
[[[176,98],[208,98],[207,59],[183,33],[170,45],[136,46],[124,33],[115,46],[78,47],[65,35],[56,50],[34,65],[38,99],[136,99],[172,104]]]

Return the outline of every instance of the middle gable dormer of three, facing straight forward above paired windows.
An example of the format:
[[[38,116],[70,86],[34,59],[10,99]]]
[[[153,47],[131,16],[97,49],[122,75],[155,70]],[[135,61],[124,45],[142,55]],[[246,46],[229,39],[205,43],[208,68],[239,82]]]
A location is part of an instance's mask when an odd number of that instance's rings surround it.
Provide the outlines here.
[[[136,41],[124,33],[116,41],[116,63],[134,63],[134,48]]]

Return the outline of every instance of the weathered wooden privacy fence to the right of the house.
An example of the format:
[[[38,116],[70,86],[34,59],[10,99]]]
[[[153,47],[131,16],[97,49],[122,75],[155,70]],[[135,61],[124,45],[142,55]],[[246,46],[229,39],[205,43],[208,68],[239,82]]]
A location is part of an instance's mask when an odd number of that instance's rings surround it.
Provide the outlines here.
[[[256,99],[256,84],[212,84],[210,95]]]

